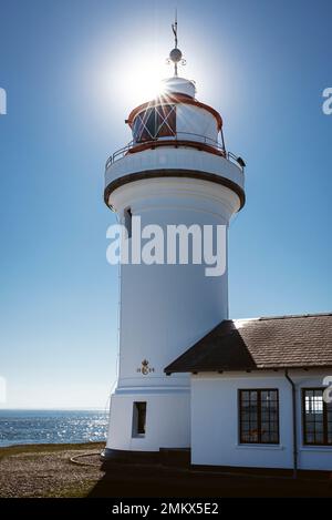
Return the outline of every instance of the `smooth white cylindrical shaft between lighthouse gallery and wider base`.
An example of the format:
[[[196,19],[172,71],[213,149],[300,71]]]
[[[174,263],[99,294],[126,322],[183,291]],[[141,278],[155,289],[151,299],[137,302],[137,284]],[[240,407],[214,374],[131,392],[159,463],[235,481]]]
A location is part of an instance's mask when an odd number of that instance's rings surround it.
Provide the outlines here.
[[[117,188],[113,204],[131,207],[142,227],[158,224],[227,225],[238,207],[228,188],[193,179],[152,179]],[[228,316],[227,272],[206,276],[206,265],[121,266],[120,386],[178,385],[164,368]],[[148,359],[154,373],[136,369]],[[159,379],[159,381],[158,381]]]

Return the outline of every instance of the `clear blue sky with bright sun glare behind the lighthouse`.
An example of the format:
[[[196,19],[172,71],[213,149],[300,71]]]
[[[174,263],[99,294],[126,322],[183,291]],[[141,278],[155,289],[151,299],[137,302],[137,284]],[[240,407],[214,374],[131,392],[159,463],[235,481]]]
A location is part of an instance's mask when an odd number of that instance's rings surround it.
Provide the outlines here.
[[[231,317],[329,312],[329,0],[177,1],[183,74],[247,162],[230,228]],[[0,376],[8,407],[101,407],[115,379],[107,156],[172,45],[175,2],[2,0]],[[160,78],[162,79],[162,78]],[[0,405],[1,406],[1,405]]]

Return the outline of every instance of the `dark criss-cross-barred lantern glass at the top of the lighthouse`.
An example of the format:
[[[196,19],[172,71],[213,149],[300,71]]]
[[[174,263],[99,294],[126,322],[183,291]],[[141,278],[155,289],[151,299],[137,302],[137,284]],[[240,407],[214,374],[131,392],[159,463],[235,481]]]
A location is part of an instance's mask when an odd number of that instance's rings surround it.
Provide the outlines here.
[[[133,126],[134,141],[142,143],[176,133],[175,105],[160,104],[136,115]]]

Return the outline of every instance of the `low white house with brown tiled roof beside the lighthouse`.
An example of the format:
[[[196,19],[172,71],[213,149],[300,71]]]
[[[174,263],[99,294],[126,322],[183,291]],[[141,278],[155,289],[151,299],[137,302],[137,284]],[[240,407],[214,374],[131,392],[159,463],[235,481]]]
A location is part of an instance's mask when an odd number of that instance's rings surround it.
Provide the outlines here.
[[[331,366],[332,314],[221,322],[166,368],[191,374],[191,463],[331,470]]]

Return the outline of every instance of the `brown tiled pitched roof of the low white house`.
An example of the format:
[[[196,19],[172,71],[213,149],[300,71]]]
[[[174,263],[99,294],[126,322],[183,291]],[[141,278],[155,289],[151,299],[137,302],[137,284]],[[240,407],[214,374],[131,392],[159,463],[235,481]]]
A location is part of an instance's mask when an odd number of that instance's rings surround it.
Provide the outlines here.
[[[332,314],[221,322],[166,374],[332,367]]]

